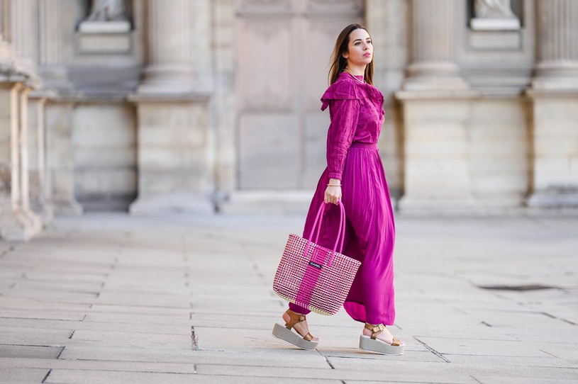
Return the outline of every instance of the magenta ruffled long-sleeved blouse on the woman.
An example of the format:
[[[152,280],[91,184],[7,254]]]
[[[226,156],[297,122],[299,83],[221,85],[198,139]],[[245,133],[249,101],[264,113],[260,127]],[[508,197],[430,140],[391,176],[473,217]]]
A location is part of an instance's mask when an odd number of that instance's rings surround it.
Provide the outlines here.
[[[357,79],[362,80],[362,76]],[[330,179],[341,180],[343,164],[352,142],[377,143],[385,111],[384,96],[372,85],[341,72],[321,97],[321,111],[329,107],[327,170]]]

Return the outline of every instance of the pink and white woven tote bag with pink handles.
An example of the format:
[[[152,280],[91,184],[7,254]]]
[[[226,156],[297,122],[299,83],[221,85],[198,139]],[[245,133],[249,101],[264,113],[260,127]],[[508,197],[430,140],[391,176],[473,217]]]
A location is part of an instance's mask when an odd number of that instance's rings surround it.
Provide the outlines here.
[[[340,221],[333,249],[316,244],[327,203],[321,203],[309,239],[291,234],[273,281],[274,293],[281,298],[321,315],[335,315],[347,298],[360,261],[345,256],[345,209],[339,201]],[[339,252],[337,246],[340,244]]]

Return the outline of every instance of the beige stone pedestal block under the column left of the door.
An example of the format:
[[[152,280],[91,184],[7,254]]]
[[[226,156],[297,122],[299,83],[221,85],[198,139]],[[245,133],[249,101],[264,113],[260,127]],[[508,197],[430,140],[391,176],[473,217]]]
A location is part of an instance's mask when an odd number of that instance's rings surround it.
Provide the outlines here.
[[[138,200],[131,213],[212,210],[207,113],[204,102],[138,105]]]

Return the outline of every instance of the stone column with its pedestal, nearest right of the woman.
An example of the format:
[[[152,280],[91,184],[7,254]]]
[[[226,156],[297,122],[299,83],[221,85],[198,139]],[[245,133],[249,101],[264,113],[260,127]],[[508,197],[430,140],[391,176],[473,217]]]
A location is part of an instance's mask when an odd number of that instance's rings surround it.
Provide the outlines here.
[[[471,212],[469,103],[475,95],[454,61],[460,33],[453,0],[411,2],[412,62],[396,97],[404,115],[401,211]],[[461,24],[460,24],[461,25]],[[465,28],[465,26],[463,27]]]

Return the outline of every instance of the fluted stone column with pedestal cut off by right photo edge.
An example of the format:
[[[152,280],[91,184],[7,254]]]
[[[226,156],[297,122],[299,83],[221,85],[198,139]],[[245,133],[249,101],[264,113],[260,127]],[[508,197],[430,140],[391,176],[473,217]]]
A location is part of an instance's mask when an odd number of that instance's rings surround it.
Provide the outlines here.
[[[578,4],[538,0],[530,207],[578,206]]]

